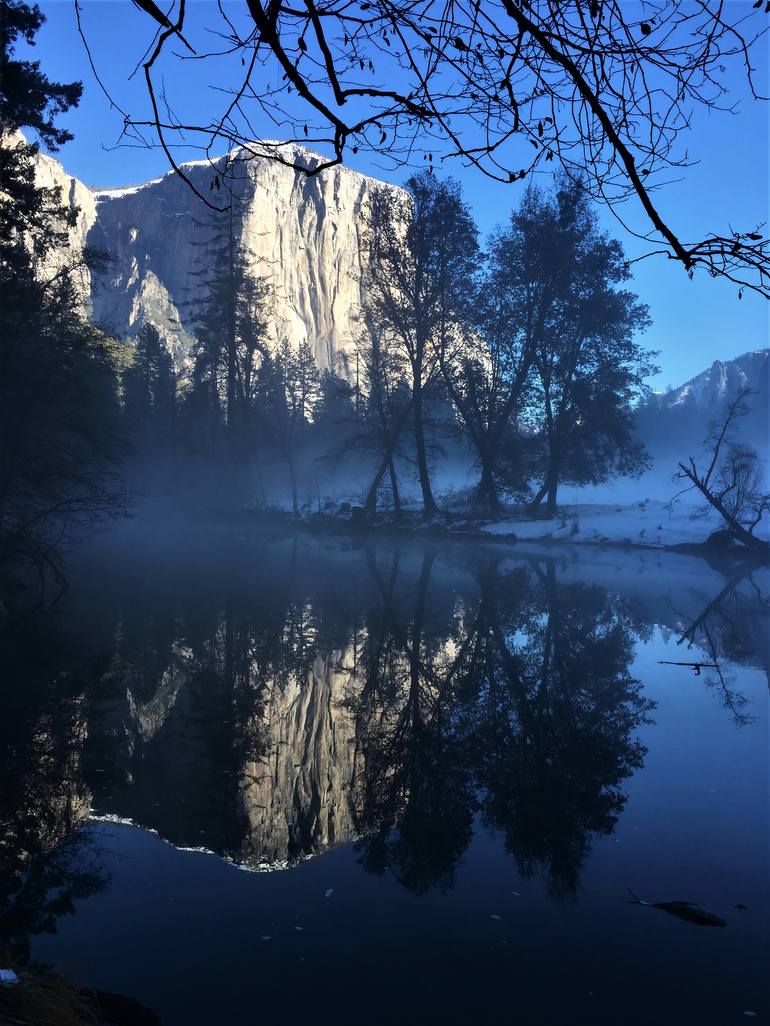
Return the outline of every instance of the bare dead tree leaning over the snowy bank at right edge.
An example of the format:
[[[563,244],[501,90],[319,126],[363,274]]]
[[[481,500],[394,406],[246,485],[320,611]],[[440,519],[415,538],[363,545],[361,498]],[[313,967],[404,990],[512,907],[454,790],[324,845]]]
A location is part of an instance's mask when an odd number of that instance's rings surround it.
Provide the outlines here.
[[[737,542],[750,552],[770,557],[770,543],[755,534],[766,513],[770,513],[770,494],[764,489],[764,468],[759,455],[749,445],[735,439],[740,418],[750,412],[747,399],[750,389],[742,389],[729,403],[706,441],[708,467],[698,470],[695,460],[680,463],[676,479],[689,481],[679,495],[693,489],[705,499],[702,514],[711,509],[722,517],[725,527],[709,541]]]

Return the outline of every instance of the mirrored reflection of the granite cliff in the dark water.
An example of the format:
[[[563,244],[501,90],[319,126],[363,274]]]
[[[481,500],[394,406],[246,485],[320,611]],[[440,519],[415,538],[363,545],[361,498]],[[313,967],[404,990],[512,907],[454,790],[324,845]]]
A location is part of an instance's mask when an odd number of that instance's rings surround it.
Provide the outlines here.
[[[140,666],[113,662],[103,678],[111,698],[91,722],[110,756],[99,814],[253,869],[352,840],[361,759],[345,655],[280,680],[251,667],[251,697],[235,700],[229,722],[235,693],[218,676],[179,643],[153,684]]]

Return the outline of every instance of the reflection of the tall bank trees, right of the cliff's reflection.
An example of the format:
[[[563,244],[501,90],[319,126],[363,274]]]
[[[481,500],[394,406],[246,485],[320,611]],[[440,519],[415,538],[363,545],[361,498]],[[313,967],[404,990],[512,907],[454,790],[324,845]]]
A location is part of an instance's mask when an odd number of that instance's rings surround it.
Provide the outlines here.
[[[409,624],[381,579],[359,714],[364,864],[416,891],[447,885],[479,811],[519,871],[542,868],[554,896],[572,896],[645,753],[633,732],[652,704],[628,673],[630,614],[602,589],[559,586],[552,561],[501,573],[482,554],[477,600],[431,634],[430,566]]]

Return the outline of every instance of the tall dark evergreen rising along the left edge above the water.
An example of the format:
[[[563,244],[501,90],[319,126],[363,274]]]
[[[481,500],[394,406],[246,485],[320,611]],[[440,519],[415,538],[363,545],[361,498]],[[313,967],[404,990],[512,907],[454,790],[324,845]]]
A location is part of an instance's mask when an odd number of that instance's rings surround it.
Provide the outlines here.
[[[54,565],[54,531],[112,515],[124,497],[114,477],[116,346],[80,315],[75,269],[54,252],[77,211],[37,185],[37,145],[20,133],[30,128],[55,150],[71,136],[54,119],[80,97],[79,84],[49,82],[37,63],[15,58],[42,23],[37,7],[2,3],[0,547]]]

